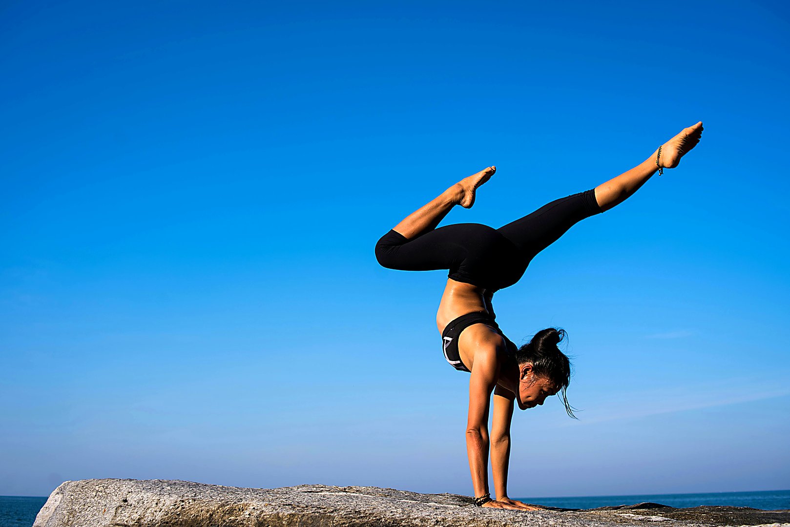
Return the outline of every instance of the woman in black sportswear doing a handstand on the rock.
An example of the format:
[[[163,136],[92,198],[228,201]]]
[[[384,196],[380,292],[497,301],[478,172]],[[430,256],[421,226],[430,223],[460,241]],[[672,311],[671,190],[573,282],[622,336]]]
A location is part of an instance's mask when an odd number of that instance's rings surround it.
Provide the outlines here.
[[[664,168],[677,167],[680,158],[697,145],[701,136],[702,122],[698,122],[661,145],[637,167],[592,190],[551,201],[504,227],[453,224],[436,228],[453,206],[468,209],[474,204],[477,187],[496,171],[489,167],[451,186],[378,240],[376,258],[389,269],[450,269],[436,325],[442,333],[447,362],[471,374],[466,450],[477,506],[540,508],[507,497],[513,401],[526,410],[543,405],[546,397],[562,393],[566,411],[573,416],[566,398],[570,363],[557,347],[564,331],[543,329],[529,344],[517,348],[495,322],[491,306],[494,293],[515,284],[532,258],[577,221],[622,203],[656,171],[662,174]],[[492,391],[494,416],[489,436]],[[489,444],[495,500],[488,491]]]

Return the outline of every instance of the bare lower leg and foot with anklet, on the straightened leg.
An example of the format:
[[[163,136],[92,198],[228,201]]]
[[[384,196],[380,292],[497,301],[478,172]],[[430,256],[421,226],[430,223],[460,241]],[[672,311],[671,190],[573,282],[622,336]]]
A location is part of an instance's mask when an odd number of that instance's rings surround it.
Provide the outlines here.
[[[680,163],[680,158],[697,145],[700,136],[702,136],[702,130],[702,121],[700,121],[694,126],[684,128],[680,134],[661,145],[661,159],[658,160],[661,167],[677,167]],[[650,176],[658,170],[658,165],[656,165],[657,155],[658,150],[656,149],[656,152],[653,152],[653,156],[650,156],[638,166],[631,168],[630,171],[596,186],[595,197],[600,209],[607,211],[615,205],[623,203],[623,201],[626,201],[626,198],[644,185],[650,179]]]

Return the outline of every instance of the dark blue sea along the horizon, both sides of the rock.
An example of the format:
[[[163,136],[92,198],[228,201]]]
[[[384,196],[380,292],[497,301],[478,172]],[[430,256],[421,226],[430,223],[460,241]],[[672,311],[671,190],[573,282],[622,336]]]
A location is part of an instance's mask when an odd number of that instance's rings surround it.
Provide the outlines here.
[[[525,503],[593,509],[608,505],[634,505],[653,502],[673,507],[729,505],[754,509],[790,509],[790,491],[712,492],[708,494],[645,494],[635,496],[587,496],[580,498],[517,498]],[[36,514],[47,498],[0,496],[0,527],[32,527]]]

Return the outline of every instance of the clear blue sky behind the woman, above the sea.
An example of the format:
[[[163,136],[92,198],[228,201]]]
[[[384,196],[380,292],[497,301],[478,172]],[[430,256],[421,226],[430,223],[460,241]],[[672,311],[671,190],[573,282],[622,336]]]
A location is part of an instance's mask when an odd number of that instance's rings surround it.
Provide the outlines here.
[[[0,495],[62,480],[472,493],[446,272],[380,235],[495,164],[499,226],[645,160],[495,299],[565,328],[510,495],[790,488],[781,2],[4,2]]]

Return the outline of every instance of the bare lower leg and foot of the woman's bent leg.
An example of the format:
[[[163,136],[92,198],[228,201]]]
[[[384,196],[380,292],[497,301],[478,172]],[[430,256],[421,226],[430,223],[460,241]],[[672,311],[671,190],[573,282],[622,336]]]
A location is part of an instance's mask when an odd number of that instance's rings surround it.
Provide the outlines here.
[[[474,205],[477,187],[486,183],[495,171],[496,167],[488,167],[468,178],[461,179],[460,182],[439,194],[438,198],[434,198],[427,205],[423,205],[406,216],[401,223],[393,228],[393,231],[403,235],[406,239],[413,239],[434,230],[455,205],[461,205],[465,209]]]

